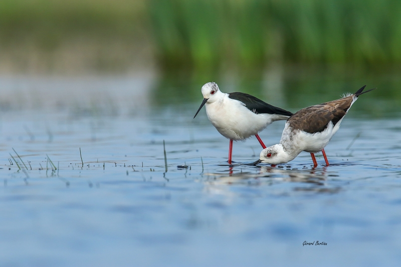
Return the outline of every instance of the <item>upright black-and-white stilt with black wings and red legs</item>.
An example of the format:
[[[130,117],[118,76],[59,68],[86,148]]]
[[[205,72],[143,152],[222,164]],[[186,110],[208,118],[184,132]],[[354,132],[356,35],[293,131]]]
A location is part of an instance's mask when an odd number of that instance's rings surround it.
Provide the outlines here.
[[[230,139],[229,164],[232,161],[233,140],[245,140],[255,135],[261,146],[266,148],[258,133],[272,122],[286,120],[292,115],[248,94],[223,93],[213,82],[202,87],[202,95],[204,100],[193,118],[206,105],[206,114],[213,126]]]

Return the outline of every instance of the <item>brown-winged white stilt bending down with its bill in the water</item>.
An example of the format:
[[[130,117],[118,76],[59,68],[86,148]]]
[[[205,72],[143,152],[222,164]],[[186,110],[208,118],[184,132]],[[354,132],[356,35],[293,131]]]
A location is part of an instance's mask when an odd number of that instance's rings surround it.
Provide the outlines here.
[[[324,147],[338,131],[342,119],[358,99],[358,96],[373,90],[362,92],[365,86],[353,95],[347,94],[341,99],[296,112],[287,120],[280,144],[263,149],[260,153],[260,159],[255,161],[254,164],[261,162],[272,165],[287,163],[302,151],[306,151],[311,154],[313,165],[317,166],[314,153],[322,151],[328,166],[329,162]]]

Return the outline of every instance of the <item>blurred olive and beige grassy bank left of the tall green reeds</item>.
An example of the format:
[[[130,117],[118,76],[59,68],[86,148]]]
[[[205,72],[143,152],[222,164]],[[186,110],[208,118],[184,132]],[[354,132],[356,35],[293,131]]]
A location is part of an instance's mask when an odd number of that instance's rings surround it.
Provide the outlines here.
[[[124,72],[153,60],[148,25],[143,0],[2,0],[0,72]]]

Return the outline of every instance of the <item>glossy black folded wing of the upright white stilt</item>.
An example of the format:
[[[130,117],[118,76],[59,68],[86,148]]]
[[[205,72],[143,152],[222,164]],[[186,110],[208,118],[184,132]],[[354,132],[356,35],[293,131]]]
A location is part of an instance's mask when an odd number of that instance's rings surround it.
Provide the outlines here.
[[[292,113],[289,111],[267,104],[266,102],[260,100],[259,98],[251,96],[249,94],[240,92],[229,93],[229,98],[241,101],[250,111],[256,114],[268,113],[268,114],[278,114],[284,116],[292,115]]]

